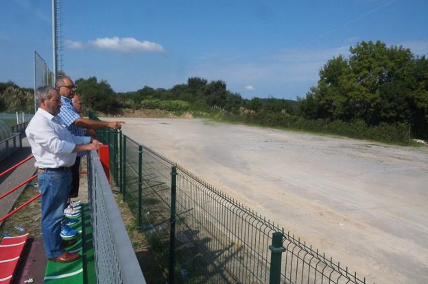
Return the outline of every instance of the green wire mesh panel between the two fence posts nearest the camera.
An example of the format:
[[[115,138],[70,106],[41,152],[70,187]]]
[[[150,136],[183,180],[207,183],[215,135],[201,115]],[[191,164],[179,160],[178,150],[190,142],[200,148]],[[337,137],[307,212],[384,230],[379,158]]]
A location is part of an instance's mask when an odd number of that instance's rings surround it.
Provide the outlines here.
[[[193,283],[268,283],[265,220],[178,168],[178,265]]]

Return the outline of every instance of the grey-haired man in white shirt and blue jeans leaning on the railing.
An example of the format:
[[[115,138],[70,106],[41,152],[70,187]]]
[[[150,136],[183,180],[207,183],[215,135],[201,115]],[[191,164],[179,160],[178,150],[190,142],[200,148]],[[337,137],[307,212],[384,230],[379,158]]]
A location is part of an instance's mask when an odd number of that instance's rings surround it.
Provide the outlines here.
[[[38,167],[38,185],[42,194],[42,233],[47,259],[71,262],[80,257],[67,253],[60,230],[71,186],[71,172],[76,153],[98,149],[99,142],[86,136],[74,136],[56,116],[62,105],[60,94],[51,87],[37,90],[40,107],[25,133]]]

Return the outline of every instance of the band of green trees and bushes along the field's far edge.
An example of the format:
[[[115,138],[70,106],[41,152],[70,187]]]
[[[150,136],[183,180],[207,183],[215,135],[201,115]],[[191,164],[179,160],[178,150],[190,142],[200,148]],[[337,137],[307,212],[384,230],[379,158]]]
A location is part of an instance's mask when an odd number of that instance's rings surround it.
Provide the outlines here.
[[[200,77],[170,89],[144,86],[126,93],[96,77],[75,83],[86,109],[112,115],[160,109],[163,117],[192,114],[398,144],[428,140],[428,59],[379,41],[361,42],[350,47],[347,58],[337,55],[326,62],[317,86],[297,101],[243,99],[224,81]]]

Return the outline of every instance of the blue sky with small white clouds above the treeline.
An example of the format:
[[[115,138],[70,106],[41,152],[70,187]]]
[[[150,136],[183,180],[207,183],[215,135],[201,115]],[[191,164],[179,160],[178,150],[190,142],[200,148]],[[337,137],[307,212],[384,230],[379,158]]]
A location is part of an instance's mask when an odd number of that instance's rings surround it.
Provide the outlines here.
[[[51,1],[3,0],[0,10],[0,81],[31,87],[33,50],[52,64]],[[428,55],[427,15],[427,0],[64,0],[63,66],[117,92],[197,76],[245,98],[296,99],[362,40]]]

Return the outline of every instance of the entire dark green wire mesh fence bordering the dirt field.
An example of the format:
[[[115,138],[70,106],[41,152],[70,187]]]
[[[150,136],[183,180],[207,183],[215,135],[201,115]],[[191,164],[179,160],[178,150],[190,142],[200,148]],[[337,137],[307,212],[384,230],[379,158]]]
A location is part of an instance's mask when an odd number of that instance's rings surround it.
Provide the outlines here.
[[[98,135],[168,283],[366,283],[120,131]]]

